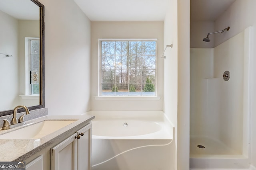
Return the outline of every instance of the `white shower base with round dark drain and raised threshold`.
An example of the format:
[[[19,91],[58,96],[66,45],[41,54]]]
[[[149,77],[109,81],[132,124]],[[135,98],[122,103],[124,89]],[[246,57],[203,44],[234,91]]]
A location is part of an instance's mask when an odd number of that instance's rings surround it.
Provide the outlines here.
[[[191,136],[190,168],[246,169],[249,168],[249,159],[241,151],[231,149],[216,139]]]

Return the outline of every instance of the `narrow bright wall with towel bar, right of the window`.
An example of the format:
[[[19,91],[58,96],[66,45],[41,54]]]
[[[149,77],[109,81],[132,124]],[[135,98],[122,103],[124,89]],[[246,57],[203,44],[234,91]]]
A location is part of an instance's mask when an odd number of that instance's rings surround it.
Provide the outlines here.
[[[177,145],[178,145],[178,45],[177,45],[177,1],[168,1],[168,10],[164,19],[164,48],[167,47],[164,59],[164,113],[175,127],[174,133],[174,169],[177,170]]]

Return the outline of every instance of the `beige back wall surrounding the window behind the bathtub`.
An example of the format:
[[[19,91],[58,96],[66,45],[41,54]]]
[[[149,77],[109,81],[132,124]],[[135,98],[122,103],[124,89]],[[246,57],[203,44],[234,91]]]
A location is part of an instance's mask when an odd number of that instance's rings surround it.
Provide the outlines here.
[[[162,110],[163,109],[163,28],[162,21],[156,22],[92,22],[91,27],[91,103],[92,110]],[[98,96],[98,39],[147,39],[156,38],[157,42],[157,96],[160,100],[96,100]],[[131,107],[132,106],[132,107]]]

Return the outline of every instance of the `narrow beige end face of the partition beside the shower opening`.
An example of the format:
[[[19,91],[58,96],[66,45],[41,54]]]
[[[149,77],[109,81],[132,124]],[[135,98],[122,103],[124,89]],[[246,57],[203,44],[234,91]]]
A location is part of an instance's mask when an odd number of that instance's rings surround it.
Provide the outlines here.
[[[178,170],[189,169],[190,1],[178,0]]]

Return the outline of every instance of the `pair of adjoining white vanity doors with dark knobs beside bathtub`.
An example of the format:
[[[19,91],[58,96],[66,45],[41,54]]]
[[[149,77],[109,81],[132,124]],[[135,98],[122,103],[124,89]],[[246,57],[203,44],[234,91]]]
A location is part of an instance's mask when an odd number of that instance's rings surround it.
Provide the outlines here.
[[[92,123],[50,149],[51,170],[90,170]]]

